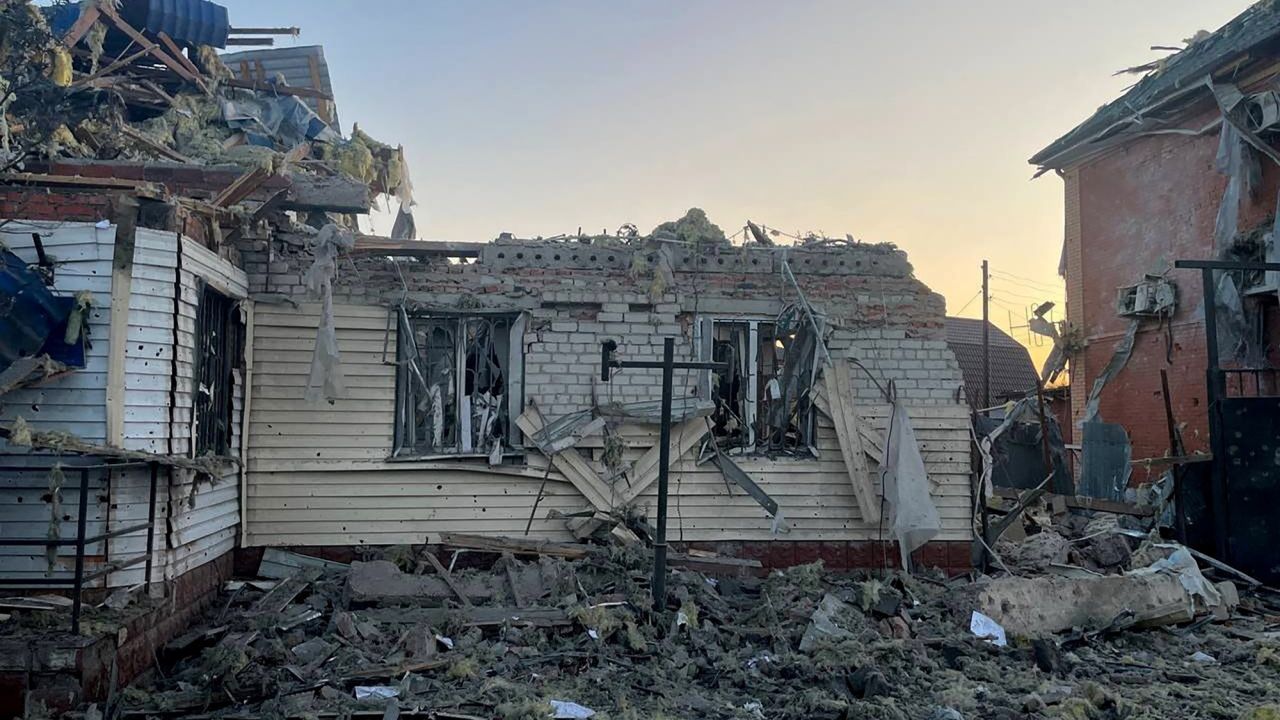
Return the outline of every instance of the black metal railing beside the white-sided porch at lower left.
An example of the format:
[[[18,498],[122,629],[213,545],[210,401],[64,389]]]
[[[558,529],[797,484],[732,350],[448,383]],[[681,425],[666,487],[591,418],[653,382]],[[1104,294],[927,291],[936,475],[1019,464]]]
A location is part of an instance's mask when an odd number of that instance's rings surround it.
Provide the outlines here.
[[[86,537],[86,528],[88,524],[88,495],[90,495],[90,473],[106,470],[108,477],[115,470],[127,470],[131,468],[150,468],[151,470],[151,491],[147,496],[147,521],[137,523],[134,525],[128,525],[124,528],[116,528],[114,530],[105,530],[96,536]],[[0,474],[3,473],[33,473],[33,471],[47,471],[52,466],[35,466],[35,465],[0,465]],[[63,473],[65,474],[79,474],[79,498],[78,498],[78,511],[76,515],[76,537],[74,538],[5,538],[0,537],[0,547],[44,547],[44,548],[58,548],[58,547],[74,547],[76,548],[76,570],[70,578],[50,578],[44,577],[0,577],[0,587],[31,587],[41,585],[47,588],[67,588],[72,591],[72,633],[79,634],[79,620],[81,610],[83,606],[83,592],[84,584],[111,573],[123,570],[125,568],[132,568],[140,562],[146,562],[146,582],[151,583],[151,553],[155,550],[155,525],[156,525],[156,482],[160,473],[160,464],[155,461],[137,461],[137,462],[105,462],[99,465],[63,465]],[[8,486],[9,488],[22,488],[31,487],[33,489],[45,489],[44,486]],[[110,502],[110,500],[108,501]],[[127,536],[140,530],[147,532],[147,551],[146,555],[133,557],[131,560],[120,561],[104,561],[102,566],[95,569],[92,573],[84,571],[84,548],[90,544],[104,542],[120,536]],[[104,548],[104,559],[106,552]]]

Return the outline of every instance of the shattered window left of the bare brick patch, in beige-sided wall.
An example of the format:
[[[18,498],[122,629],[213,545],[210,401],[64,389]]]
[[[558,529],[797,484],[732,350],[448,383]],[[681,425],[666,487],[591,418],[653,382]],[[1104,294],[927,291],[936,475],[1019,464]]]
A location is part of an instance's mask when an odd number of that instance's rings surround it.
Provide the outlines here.
[[[522,315],[399,314],[394,456],[484,454],[518,445]]]

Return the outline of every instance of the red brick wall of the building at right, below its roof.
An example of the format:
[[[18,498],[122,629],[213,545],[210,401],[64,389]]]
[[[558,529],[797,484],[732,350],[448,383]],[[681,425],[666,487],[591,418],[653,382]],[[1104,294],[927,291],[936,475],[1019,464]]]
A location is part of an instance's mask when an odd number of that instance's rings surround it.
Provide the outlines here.
[[[1211,119],[1212,113],[1187,124],[1201,127]],[[1161,273],[1175,260],[1215,258],[1213,224],[1226,186],[1213,168],[1217,143],[1217,133],[1143,137],[1066,174],[1068,314],[1084,328],[1087,342],[1071,368],[1076,421],[1129,324],[1116,315],[1116,288],[1137,283],[1143,273]],[[1270,220],[1277,178],[1280,172],[1263,159],[1261,188],[1240,206],[1242,231]],[[1103,420],[1128,429],[1135,459],[1164,455],[1169,446],[1161,369],[1169,373],[1174,415],[1187,423],[1188,450],[1208,445],[1199,272],[1170,270],[1167,277],[1178,286],[1172,323],[1143,320],[1129,364],[1100,404]]]

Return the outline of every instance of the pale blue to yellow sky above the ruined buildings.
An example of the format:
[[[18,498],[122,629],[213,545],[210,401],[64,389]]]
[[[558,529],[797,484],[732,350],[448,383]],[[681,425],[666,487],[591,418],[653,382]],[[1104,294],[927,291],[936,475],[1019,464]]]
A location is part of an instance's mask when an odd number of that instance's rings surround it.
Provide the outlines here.
[[[1062,182],[1027,159],[1149,46],[1249,5],[220,1],[233,26],[302,28],[278,45],[324,45],[343,132],[404,146],[422,238],[644,232],[698,206],[726,233],[892,242],[970,318],[987,259],[992,319],[1023,342],[1028,306],[1062,310]]]

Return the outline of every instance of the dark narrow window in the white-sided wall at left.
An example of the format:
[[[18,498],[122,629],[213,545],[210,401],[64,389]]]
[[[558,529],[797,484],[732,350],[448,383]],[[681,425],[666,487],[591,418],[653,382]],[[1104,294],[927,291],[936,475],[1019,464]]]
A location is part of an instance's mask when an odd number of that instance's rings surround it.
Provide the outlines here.
[[[196,397],[193,450],[232,455],[236,369],[244,356],[244,327],[236,301],[202,286],[196,310]]]

